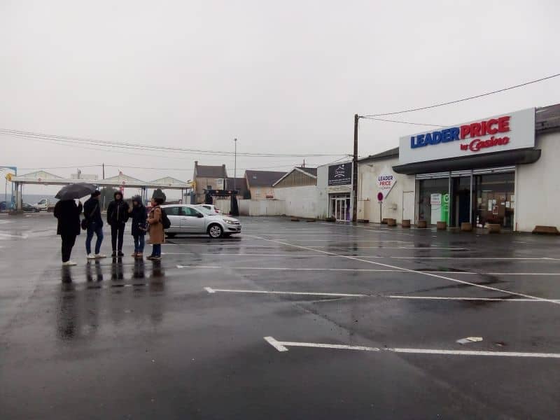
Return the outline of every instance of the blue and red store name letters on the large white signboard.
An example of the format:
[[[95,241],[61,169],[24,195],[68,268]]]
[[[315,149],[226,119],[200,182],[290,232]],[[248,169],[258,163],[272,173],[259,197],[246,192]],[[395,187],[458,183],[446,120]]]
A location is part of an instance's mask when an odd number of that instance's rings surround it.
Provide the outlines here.
[[[418,134],[416,136],[410,137],[410,147],[419,148],[440,143],[449,143],[456,140],[460,141],[469,138],[476,139],[476,137],[493,136],[494,134],[509,132],[510,118],[510,116],[491,118],[489,120],[481,121],[480,123],[471,123],[467,125],[461,125],[461,127],[451,127],[440,131],[429,132],[426,134]],[[503,139],[506,139],[506,137],[504,137]],[[493,139],[491,139],[491,141],[493,142]],[[509,138],[507,138],[507,141],[509,141]],[[507,142],[505,144],[507,144]],[[467,150],[464,149],[463,146],[465,145],[461,145],[461,150]],[[492,146],[497,146],[497,144],[492,144]],[[470,145],[468,145],[468,147],[470,147]],[[478,151],[482,147],[489,146],[472,147],[479,147],[477,149]]]

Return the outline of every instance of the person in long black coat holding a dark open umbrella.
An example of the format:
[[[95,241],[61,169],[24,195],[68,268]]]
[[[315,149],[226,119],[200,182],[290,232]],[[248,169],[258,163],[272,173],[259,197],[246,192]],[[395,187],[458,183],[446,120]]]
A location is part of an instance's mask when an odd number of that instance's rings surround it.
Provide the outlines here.
[[[92,184],[74,183],[65,186],[55,195],[59,199],[54,215],[58,220],[57,235],[62,239],[62,265],[76,265],[76,262],[70,260],[70,255],[76,237],[80,235],[80,213],[83,206],[80,201],[76,205],[74,200],[93,193],[95,189]]]

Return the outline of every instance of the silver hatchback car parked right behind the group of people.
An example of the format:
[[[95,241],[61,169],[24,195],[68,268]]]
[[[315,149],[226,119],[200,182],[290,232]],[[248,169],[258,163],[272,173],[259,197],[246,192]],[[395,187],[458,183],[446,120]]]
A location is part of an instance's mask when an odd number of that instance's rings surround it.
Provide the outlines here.
[[[171,222],[171,228],[165,230],[170,238],[178,233],[207,233],[213,239],[241,233],[241,223],[236,218],[216,214],[204,207],[167,204],[162,209]]]

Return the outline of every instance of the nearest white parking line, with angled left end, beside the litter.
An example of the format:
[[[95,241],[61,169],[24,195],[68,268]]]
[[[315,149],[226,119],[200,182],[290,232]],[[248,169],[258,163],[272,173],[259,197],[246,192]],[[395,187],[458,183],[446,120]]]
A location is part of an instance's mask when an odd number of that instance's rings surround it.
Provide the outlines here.
[[[533,357],[560,358],[560,353],[528,353],[523,351],[483,351],[483,350],[447,350],[447,349],[409,349],[402,347],[346,346],[344,344],[325,344],[307,342],[280,342],[274,337],[263,337],[265,341],[278,351],[288,351],[288,347],[314,347],[318,349],[357,350],[357,351],[388,351],[391,353],[438,354],[446,356],[498,356],[498,357]]]

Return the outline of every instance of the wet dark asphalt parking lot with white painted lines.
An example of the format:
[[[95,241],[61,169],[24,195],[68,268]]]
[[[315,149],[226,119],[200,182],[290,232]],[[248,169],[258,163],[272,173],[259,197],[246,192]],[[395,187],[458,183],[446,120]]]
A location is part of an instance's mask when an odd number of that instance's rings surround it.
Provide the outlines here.
[[[560,416],[559,238],[241,221],[62,269],[0,215],[0,417]]]

